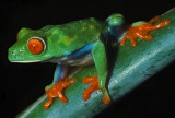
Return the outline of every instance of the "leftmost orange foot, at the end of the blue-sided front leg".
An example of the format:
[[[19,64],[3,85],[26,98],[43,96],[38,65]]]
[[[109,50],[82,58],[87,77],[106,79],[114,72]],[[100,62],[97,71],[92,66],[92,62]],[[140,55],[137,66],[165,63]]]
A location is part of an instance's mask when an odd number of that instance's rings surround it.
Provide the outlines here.
[[[52,87],[47,88],[46,93],[48,95],[48,102],[44,104],[44,109],[48,109],[48,107],[52,104],[52,98],[58,97],[62,103],[67,103],[68,99],[62,95],[62,90],[69,86],[71,83],[74,83],[75,79],[72,79],[68,82],[68,76],[65,80],[59,80],[57,84],[52,85]]]

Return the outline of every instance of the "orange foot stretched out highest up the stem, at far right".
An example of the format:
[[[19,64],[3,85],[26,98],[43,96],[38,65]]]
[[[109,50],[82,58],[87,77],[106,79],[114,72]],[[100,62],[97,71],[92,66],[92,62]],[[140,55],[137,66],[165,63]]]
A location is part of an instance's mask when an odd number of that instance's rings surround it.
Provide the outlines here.
[[[153,37],[152,35],[148,35],[148,32],[167,26],[171,23],[171,20],[164,20],[154,25],[153,23],[159,19],[160,16],[155,16],[152,20],[150,20],[148,23],[141,23],[137,25],[133,23],[132,26],[128,28],[127,34],[122,37],[120,45],[124,46],[127,38],[131,40],[132,46],[137,45],[135,38],[151,40]]]

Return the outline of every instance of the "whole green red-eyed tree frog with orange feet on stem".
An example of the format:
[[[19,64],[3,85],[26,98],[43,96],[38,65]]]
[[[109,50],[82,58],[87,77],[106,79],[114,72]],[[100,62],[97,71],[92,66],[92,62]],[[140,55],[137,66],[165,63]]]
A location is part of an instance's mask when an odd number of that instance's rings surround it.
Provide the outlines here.
[[[100,90],[103,93],[103,103],[109,104],[112,98],[108,93],[106,81],[108,80],[108,49],[125,46],[130,39],[131,46],[136,47],[136,38],[151,40],[150,31],[167,26],[171,21],[164,20],[154,24],[160,16],[149,22],[139,21],[127,25],[124,15],[114,13],[105,21],[94,17],[73,21],[60,25],[46,25],[39,30],[23,27],[18,33],[16,43],[9,48],[10,62],[51,62],[56,63],[52,83],[45,87],[48,101],[44,109],[52,104],[52,98],[58,97],[62,103],[68,103],[63,90],[73,84],[77,79],[70,79],[70,67],[81,68],[94,64],[97,74],[84,76],[83,83],[90,84],[82,97],[88,101],[91,94]],[[77,70],[77,69],[75,69]],[[113,71],[113,70],[110,70]]]

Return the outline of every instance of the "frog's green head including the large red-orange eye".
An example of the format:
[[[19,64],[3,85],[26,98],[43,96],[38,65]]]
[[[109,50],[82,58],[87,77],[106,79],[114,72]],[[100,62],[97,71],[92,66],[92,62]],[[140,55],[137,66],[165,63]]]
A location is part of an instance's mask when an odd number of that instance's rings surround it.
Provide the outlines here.
[[[38,62],[54,57],[54,50],[48,49],[51,43],[42,31],[22,28],[18,34],[18,42],[9,48],[8,58],[11,62]]]

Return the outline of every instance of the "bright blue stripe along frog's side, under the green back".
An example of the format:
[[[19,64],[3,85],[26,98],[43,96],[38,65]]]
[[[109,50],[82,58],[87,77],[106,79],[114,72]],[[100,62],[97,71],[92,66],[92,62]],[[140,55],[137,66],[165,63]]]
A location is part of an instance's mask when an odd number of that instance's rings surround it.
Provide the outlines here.
[[[84,55],[85,52],[91,52],[93,46],[94,46],[94,44],[89,44],[89,45],[86,45],[86,46],[83,47],[82,49],[78,50],[75,54],[70,55],[70,56],[68,57],[68,59],[77,58],[77,57],[79,57],[79,56]]]

